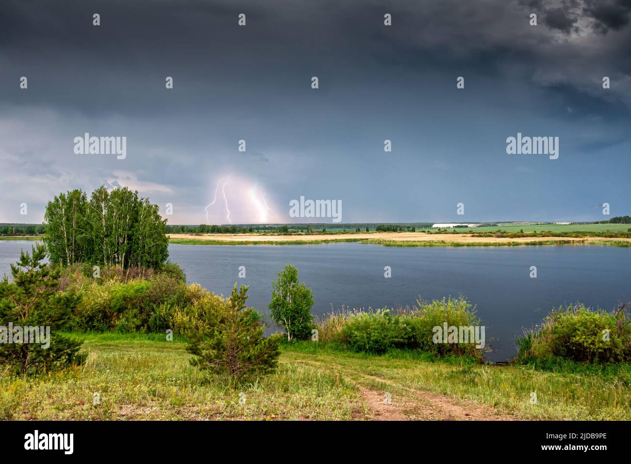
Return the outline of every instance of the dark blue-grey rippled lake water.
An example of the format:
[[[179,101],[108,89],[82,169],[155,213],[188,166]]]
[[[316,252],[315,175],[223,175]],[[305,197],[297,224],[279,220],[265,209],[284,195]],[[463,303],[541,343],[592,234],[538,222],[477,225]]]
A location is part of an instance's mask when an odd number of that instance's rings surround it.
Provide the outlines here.
[[[20,248],[32,242],[0,241],[0,276]],[[228,295],[235,282],[249,285],[250,306],[267,313],[271,281],[286,264],[314,294],[313,314],[346,308],[411,305],[464,295],[476,306],[495,350],[489,360],[516,354],[515,337],[553,307],[581,301],[614,309],[631,300],[631,248],[608,246],[384,247],[357,243],[282,246],[169,245],[170,259],[213,292]],[[245,278],[239,278],[245,266]],[[392,277],[384,278],[384,266]],[[530,278],[530,267],[537,278]]]

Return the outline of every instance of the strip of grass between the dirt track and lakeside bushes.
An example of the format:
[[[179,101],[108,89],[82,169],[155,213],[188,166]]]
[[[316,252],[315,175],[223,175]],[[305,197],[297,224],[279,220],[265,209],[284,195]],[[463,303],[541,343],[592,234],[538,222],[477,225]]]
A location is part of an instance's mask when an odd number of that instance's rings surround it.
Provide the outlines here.
[[[310,357],[307,356],[310,354]],[[411,400],[422,391],[489,405],[515,419],[629,420],[631,366],[592,372],[551,372],[528,366],[438,360],[413,352],[340,354],[313,345],[286,348],[286,362],[338,369],[367,386]],[[537,403],[531,404],[531,393]]]

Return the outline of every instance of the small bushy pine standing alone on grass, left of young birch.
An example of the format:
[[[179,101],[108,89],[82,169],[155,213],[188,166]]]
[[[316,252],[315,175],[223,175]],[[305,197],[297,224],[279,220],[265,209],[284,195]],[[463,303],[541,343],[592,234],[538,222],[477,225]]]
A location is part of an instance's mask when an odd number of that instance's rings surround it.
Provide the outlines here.
[[[239,381],[251,374],[268,374],[276,368],[280,335],[263,336],[261,316],[245,305],[248,287],[237,284],[230,298],[219,308],[198,313],[204,330],[189,335],[187,352],[195,357],[193,366],[215,374],[227,374]]]

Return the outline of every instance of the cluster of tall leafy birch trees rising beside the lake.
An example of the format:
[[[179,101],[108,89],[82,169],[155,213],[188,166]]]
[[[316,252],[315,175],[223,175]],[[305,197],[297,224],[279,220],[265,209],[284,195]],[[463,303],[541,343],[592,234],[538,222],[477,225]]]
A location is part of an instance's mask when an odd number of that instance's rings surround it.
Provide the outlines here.
[[[127,187],[101,186],[90,199],[80,189],[61,193],[47,204],[44,222],[54,263],[156,268],[168,258],[167,220]]]

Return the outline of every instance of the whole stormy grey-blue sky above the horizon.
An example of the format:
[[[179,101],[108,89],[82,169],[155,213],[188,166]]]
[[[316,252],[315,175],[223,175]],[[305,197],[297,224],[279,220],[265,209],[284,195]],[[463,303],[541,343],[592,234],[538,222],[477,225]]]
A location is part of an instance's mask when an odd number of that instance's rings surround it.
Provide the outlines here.
[[[163,213],[172,203],[169,223],[204,223],[220,179],[209,223],[228,222],[226,201],[232,223],[259,222],[261,198],[268,222],[307,222],[288,214],[300,196],[340,200],[343,222],[603,220],[603,203],[626,215],[630,12],[631,0],[2,0],[0,222],[41,222],[54,195],[105,184]],[[75,154],[84,133],[125,136],[126,158]],[[517,133],[557,136],[558,159],[507,154]]]

